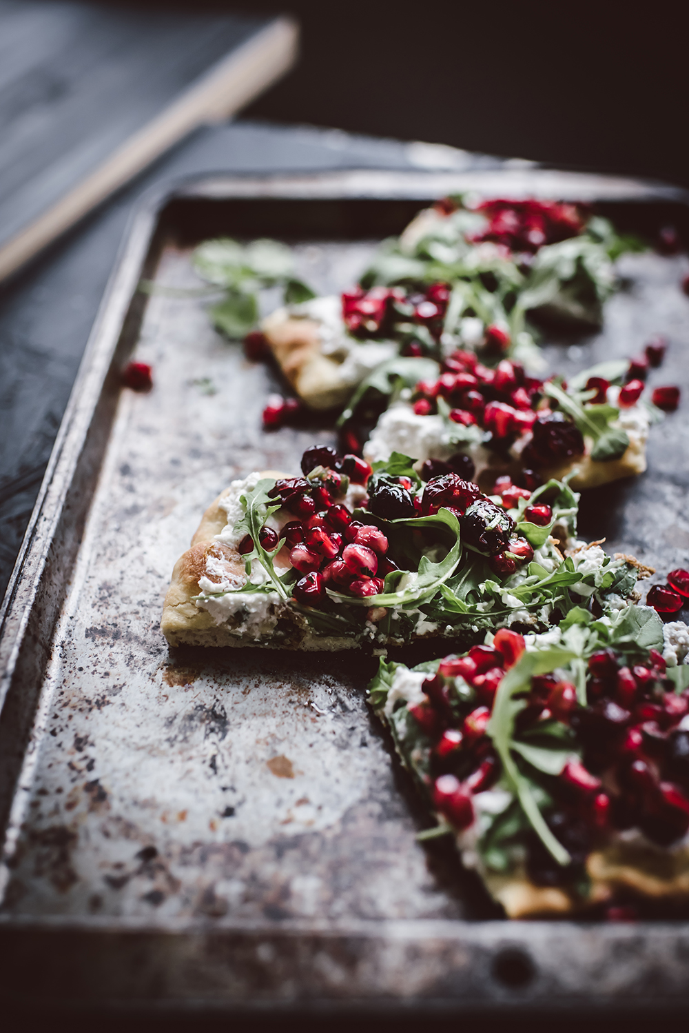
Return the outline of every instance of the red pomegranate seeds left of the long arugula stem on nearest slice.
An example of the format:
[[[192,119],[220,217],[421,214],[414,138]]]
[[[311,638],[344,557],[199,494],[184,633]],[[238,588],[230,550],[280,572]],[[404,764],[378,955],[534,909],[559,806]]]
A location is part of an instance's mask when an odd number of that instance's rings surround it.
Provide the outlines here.
[[[428,779],[433,805],[455,828],[472,823],[473,794],[498,777],[497,756],[486,732],[497,687],[523,651],[522,636],[502,628],[492,647],[473,646],[466,656],[441,660],[437,674],[423,683],[426,699],[407,708],[432,743]],[[461,697],[455,691],[458,678],[465,683]]]

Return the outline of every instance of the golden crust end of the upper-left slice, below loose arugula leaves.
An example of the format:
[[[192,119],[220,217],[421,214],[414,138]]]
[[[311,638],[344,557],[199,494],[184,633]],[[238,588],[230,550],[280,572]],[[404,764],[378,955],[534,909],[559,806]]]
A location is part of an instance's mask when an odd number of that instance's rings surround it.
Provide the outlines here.
[[[261,328],[287,380],[310,409],[345,405],[352,385],[342,382],[341,363],[322,353],[315,319],[291,316],[286,309],[278,309],[263,320]]]

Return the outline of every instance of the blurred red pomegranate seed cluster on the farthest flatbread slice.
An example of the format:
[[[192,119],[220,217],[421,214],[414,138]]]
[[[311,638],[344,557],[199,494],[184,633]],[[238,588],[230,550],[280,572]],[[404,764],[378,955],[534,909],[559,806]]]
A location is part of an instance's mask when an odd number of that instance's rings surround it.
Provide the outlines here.
[[[578,237],[584,229],[581,210],[576,205],[543,200],[489,200],[478,211],[489,220],[488,227],[470,240],[474,244],[493,241],[510,251],[534,253],[545,244]]]

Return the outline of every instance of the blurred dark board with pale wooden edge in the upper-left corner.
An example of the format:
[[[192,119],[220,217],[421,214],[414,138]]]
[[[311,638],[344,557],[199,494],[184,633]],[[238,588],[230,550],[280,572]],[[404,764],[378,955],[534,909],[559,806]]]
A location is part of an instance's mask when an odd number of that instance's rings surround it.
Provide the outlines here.
[[[0,0],[0,280],[294,63],[287,18]]]

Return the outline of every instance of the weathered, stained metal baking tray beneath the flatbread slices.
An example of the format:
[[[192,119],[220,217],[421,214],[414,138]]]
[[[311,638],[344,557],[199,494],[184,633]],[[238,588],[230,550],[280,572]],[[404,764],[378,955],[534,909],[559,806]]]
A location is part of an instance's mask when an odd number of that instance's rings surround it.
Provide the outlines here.
[[[315,432],[265,435],[274,374],[211,330],[202,300],[146,299],[141,276],[195,286],[198,240],[272,236],[319,290],[340,290],[426,199],[469,187],[597,199],[630,228],[687,223],[667,188],[520,168],[217,177],[136,216],[5,602],[6,999],[689,1000],[683,922],[508,924],[447,844],[415,841],[423,812],[364,703],[373,661],[170,651],[159,631],[172,565],[208,501],[253,469],[295,469]],[[550,366],[627,355],[660,332],[671,348],[656,382],[687,392],[686,271],[685,256],[623,259],[628,283],[604,331],[554,341]],[[149,395],[120,389],[133,350],[153,364]],[[656,428],[650,472],[591,495],[585,532],[661,571],[686,565],[688,446],[686,416]]]

